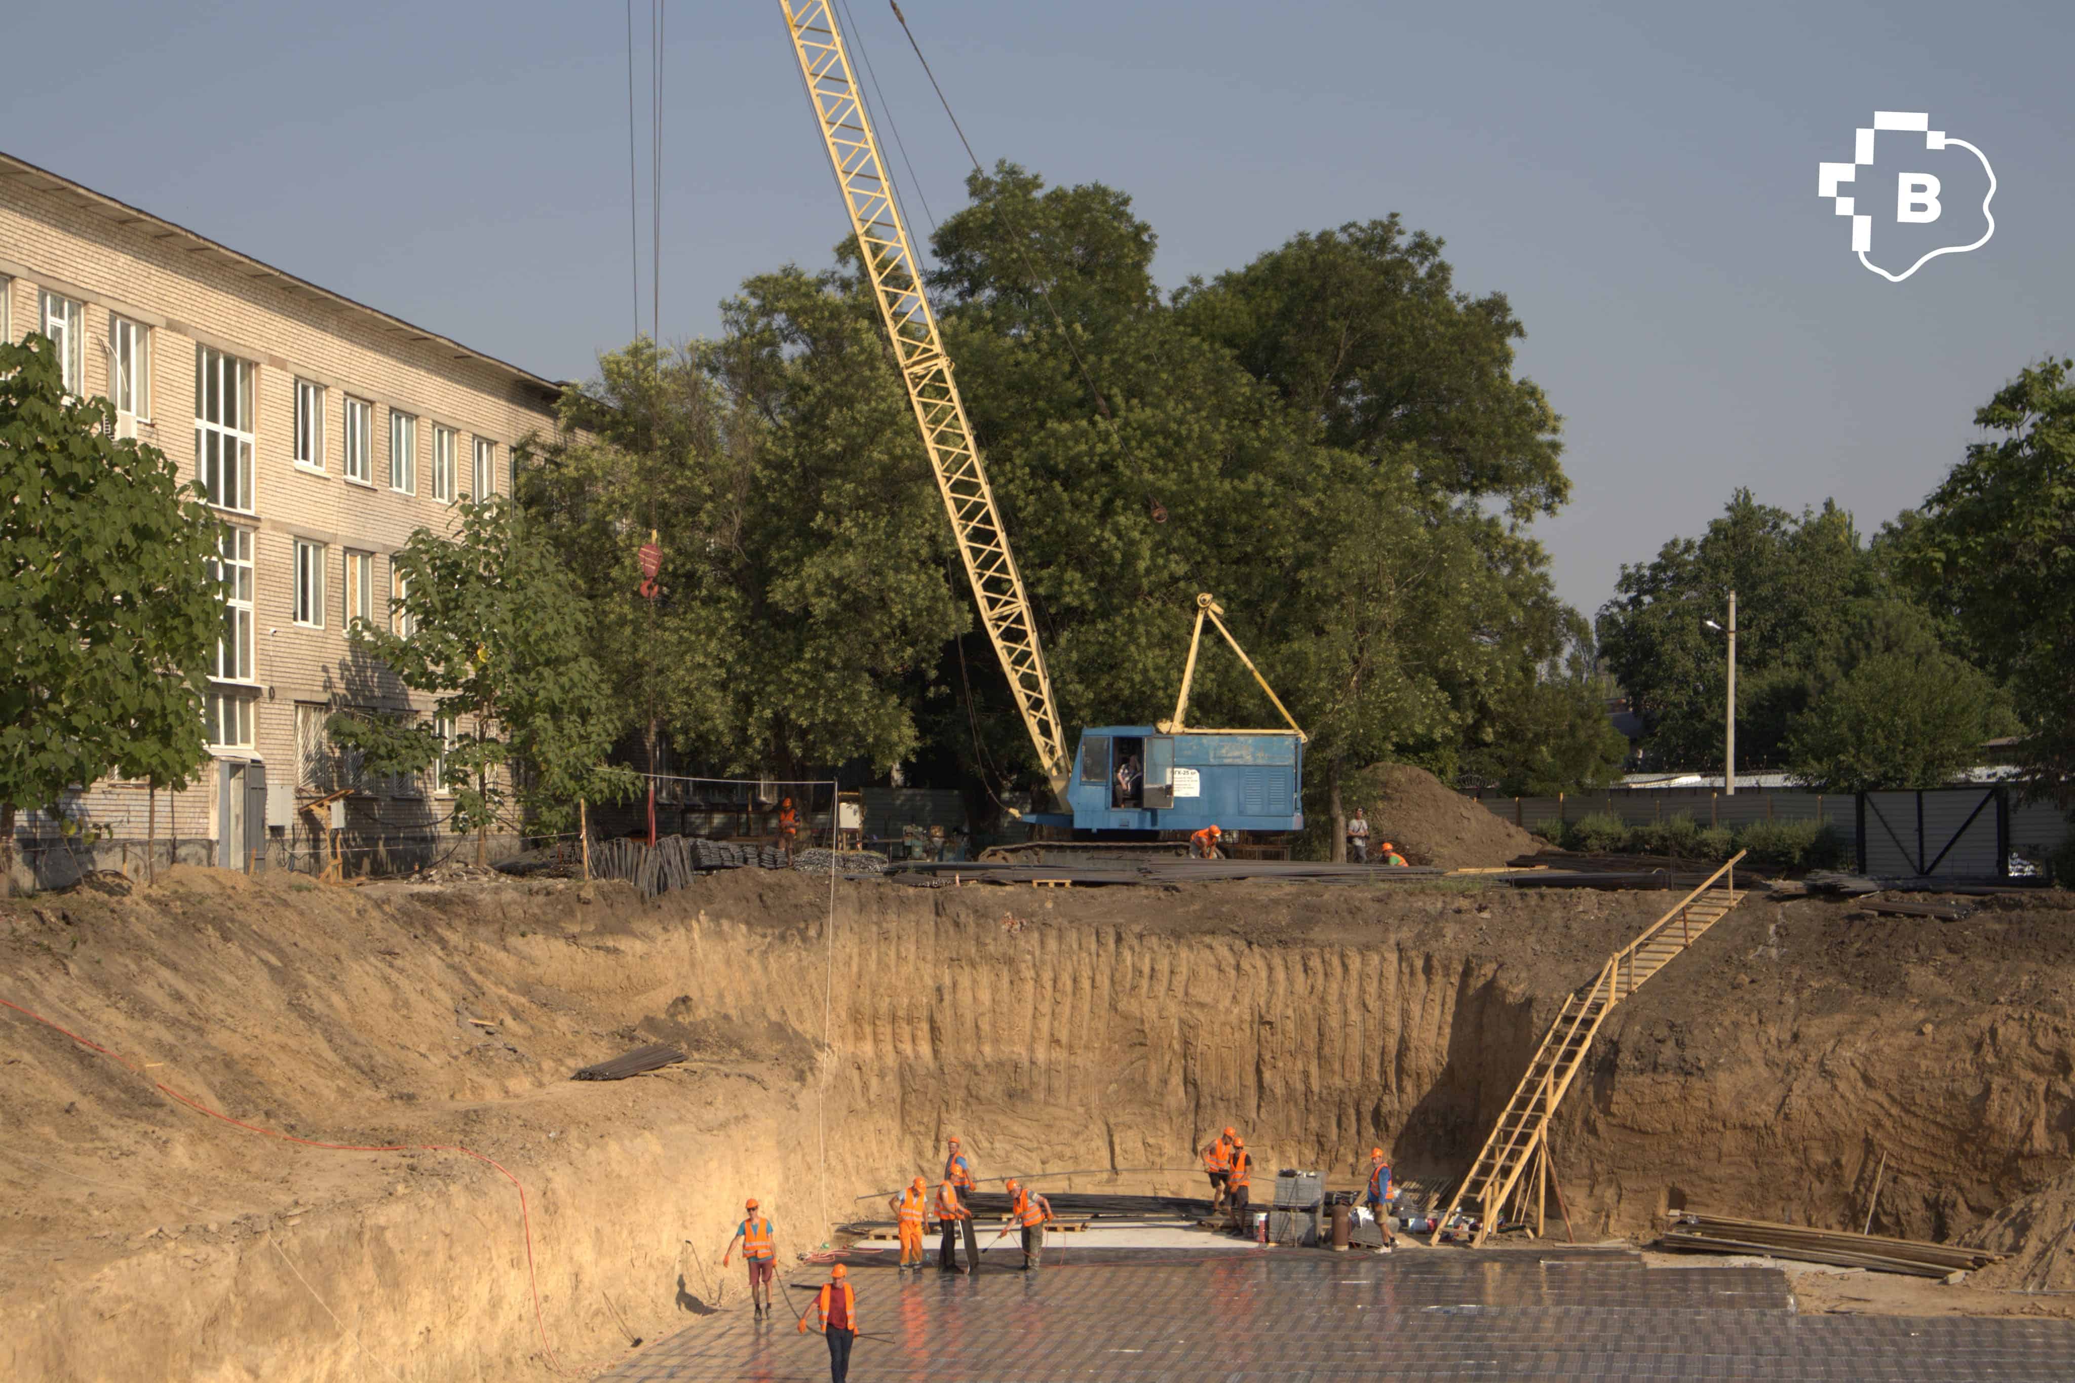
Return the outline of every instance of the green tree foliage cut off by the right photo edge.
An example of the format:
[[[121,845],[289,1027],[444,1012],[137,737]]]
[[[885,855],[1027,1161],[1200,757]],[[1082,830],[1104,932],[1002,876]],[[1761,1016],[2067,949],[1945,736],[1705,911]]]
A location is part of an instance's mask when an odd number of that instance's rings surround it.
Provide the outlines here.
[[[1894,527],[1899,564],[2004,678],[2029,788],[2075,805],[2075,361],[2040,361],[1975,413],[1967,448]],[[2071,858],[2075,863],[2075,858]]]

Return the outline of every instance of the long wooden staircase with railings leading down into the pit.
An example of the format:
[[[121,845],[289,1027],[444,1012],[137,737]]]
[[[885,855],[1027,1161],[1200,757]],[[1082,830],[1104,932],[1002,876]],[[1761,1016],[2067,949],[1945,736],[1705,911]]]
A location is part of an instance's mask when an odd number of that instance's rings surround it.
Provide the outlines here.
[[[1521,1076],[1504,1113],[1498,1116],[1492,1136],[1484,1140],[1477,1161],[1469,1165],[1469,1176],[1457,1186],[1448,1209],[1436,1217],[1432,1242],[1440,1242],[1442,1227],[1465,1203],[1475,1205],[1479,1221],[1471,1248],[1486,1240],[1513,1201],[1533,1215],[1536,1234],[1542,1234],[1542,1203],[1550,1176],[1548,1128],[1558,1101],[1571,1089],[1571,1080],[1592,1049],[1592,1039],[1598,1037],[1600,1024],[1606,1022],[1614,1006],[1670,964],[1679,952],[1699,941],[1737,906],[1743,898],[1737,892],[1737,860],[1741,858],[1739,850],[1699,887],[1681,898],[1670,912],[1608,956],[1589,985],[1565,999],[1556,1022],[1536,1047],[1527,1074]]]

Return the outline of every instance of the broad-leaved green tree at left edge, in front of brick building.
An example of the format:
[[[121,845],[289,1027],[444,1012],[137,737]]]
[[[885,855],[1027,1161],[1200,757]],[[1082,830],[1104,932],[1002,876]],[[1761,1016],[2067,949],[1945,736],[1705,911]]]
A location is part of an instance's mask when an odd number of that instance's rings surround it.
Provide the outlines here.
[[[0,344],[0,877],[17,809],[208,759],[220,525],[154,446],[73,398],[44,336]]]

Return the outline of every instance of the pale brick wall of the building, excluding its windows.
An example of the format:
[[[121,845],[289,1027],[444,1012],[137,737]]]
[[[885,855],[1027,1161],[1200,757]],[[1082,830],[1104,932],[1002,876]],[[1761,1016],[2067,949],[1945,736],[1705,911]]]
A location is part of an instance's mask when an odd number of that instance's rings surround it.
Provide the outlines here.
[[[268,792],[301,788],[309,798],[328,786],[313,763],[299,763],[299,707],[309,749],[320,707],[411,705],[411,697],[384,668],[355,653],[347,641],[347,549],[371,556],[371,605],[388,618],[392,595],[390,556],[417,529],[442,531],[454,506],[434,498],[434,427],[454,431],[454,493],[473,489],[475,440],[494,444],[494,489],[508,491],[513,446],[554,433],[554,392],[519,369],[457,350],[452,342],[392,321],[264,272],[237,255],[212,249],[197,236],[139,216],[110,211],[110,203],[83,195],[58,178],[21,172],[0,162],[0,286],[6,292],[6,334],[21,340],[39,330],[39,290],[58,292],[85,307],[85,392],[110,394],[112,317],[149,332],[149,413],[137,438],[164,450],[183,479],[197,475],[197,346],[222,350],[253,367],[253,500],[249,512],[218,510],[249,529],[253,541],[253,676],[222,684],[253,707],[249,746],[220,746],[224,761],[257,759],[266,765]],[[322,469],[295,460],[297,382],[324,388]],[[369,483],[344,477],[347,396],[371,404]],[[390,417],[417,419],[415,493],[390,487]],[[324,545],[322,628],[297,624],[295,541]],[[417,709],[427,709],[419,699]],[[396,831],[436,834],[444,802],[419,784],[382,784],[355,798],[355,836]],[[100,784],[68,805],[73,815],[108,825],[120,836],[143,838],[143,794]],[[160,831],[176,825],[183,836],[220,831],[216,782],[203,782],[178,800],[160,798]],[[280,819],[278,802],[268,813]],[[270,842],[305,836],[274,829]],[[33,815],[25,834],[48,831]],[[363,840],[363,848],[371,848]]]

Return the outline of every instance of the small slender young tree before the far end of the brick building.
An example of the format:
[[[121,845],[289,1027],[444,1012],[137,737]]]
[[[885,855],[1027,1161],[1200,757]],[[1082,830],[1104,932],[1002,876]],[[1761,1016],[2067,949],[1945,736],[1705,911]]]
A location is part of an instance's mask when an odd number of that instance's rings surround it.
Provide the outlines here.
[[[405,686],[434,695],[452,738],[409,715],[340,713],[330,726],[374,773],[417,773],[444,755],[452,825],[475,831],[481,863],[490,825],[566,829],[579,800],[631,796],[639,778],[606,763],[625,713],[554,547],[502,496],[457,514],[454,537],[419,529],[392,558],[396,630],[351,632]]]

